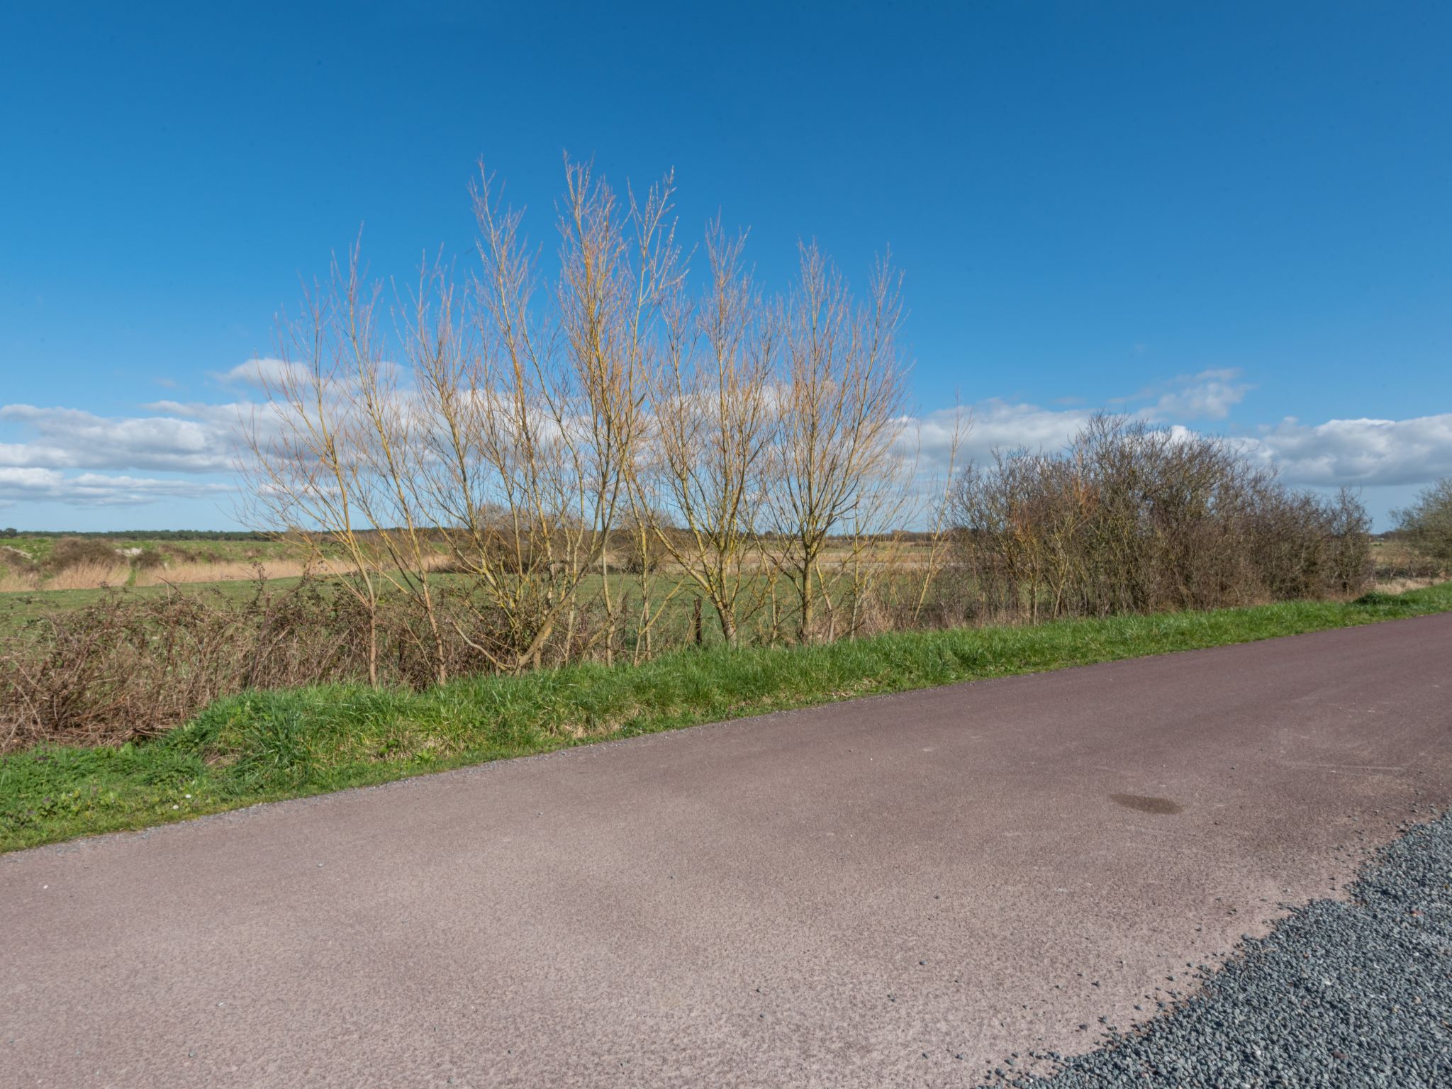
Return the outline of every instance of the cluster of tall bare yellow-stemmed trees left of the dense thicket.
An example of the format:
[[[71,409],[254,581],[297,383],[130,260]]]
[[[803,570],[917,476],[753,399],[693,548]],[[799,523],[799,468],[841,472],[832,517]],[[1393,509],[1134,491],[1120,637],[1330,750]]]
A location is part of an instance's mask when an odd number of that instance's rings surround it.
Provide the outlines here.
[[[385,290],[354,247],[283,324],[248,521],[309,543],[363,616],[409,601],[439,678],[454,642],[505,672],[639,659],[682,594],[727,643],[857,630],[922,494],[887,261],[858,299],[804,245],[768,296],[719,222],[691,272],[671,177],[620,197],[566,164],[546,282],[482,170],[472,196],[462,282],[433,263]]]

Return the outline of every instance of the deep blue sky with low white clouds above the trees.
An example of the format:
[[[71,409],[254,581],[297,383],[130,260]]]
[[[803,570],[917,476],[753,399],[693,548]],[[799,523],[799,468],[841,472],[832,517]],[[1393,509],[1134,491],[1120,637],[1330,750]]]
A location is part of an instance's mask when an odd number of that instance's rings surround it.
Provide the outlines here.
[[[674,167],[771,286],[890,245],[976,452],[1134,411],[1382,524],[1452,473],[1452,7],[408,7],[0,16],[0,526],[232,524],[298,277],[466,256],[479,157],[547,241],[563,151]]]

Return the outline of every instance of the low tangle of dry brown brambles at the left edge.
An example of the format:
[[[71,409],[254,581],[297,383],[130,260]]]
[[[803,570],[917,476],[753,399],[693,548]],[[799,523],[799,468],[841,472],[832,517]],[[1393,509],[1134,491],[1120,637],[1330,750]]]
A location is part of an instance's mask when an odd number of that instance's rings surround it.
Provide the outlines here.
[[[488,617],[460,594],[446,595],[446,608],[470,637],[447,643],[450,671],[486,671],[476,648],[497,642]],[[380,681],[430,684],[434,649],[411,601],[385,598],[376,620]],[[312,578],[282,592],[258,582],[242,603],[218,591],[113,591],[45,613],[0,646],[0,752],[154,736],[245,688],[366,681],[367,630],[354,597]]]

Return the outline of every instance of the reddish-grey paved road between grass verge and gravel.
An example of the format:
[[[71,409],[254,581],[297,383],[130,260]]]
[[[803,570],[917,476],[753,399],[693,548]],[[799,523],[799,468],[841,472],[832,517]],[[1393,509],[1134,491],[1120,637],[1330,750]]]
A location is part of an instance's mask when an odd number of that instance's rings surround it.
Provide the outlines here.
[[[1452,799],[1449,662],[1403,620],[0,857],[0,1085],[971,1083]]]

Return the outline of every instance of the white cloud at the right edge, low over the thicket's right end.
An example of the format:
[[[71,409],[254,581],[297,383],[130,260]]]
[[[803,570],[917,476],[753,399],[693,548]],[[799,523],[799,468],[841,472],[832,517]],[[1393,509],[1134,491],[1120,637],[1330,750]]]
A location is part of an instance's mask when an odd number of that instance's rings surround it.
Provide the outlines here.
[[[1294,484],[1411,485],[1452,475],[1452,412],[1314,425],[1286,417],[1247,443]]]

